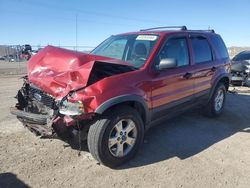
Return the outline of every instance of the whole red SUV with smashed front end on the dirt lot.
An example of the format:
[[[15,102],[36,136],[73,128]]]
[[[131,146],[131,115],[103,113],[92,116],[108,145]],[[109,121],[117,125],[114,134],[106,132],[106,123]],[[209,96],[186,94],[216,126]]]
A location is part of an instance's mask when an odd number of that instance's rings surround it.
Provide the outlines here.
[[[109,167],[131,159],[159,120],[195,105],[220,115],[230,72],[223,40],[176,28],[114,35],[90,54],[44,48],[30,59],[11,113],[42,137],[87,138]]]

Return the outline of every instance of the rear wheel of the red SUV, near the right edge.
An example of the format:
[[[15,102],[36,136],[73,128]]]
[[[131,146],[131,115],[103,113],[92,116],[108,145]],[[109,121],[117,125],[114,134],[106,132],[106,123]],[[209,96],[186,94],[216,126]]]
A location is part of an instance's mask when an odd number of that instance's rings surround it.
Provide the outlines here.
[[[209,117],[216,117],[221,115],[226,100],[226,92],[227,90],[225,84],[218,83],[206,107],[206,115],[208,115]]]

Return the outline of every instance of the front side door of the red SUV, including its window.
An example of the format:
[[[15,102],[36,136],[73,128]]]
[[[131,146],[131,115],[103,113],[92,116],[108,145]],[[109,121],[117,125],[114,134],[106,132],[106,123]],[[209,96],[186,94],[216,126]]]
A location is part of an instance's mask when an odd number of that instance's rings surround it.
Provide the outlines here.
[[[168,38],[155,60],[155,66],[161,59],[174,58],[177,67],[156,71],[151,79],[152,120],[158,119],[193,99],[194,79],[188,49],[187,35]]]

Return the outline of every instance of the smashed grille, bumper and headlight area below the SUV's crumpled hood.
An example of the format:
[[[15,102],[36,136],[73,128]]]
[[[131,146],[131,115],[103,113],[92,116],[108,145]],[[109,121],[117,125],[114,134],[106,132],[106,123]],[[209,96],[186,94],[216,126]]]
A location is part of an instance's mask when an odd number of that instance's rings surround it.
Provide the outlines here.
[[[71,103],[67,97],[56,101],[53,96],[30,83],[27,76],[24,77],[24,84],[16,99],[18,103],[11,107],[10,112],[31,132],[42,138],[68,138],[81,134],[82,139],[85,139],[87,124],[94,116],[93,113],[84,114],[81,101]],[[83,121],[84,127],[80,126]]]

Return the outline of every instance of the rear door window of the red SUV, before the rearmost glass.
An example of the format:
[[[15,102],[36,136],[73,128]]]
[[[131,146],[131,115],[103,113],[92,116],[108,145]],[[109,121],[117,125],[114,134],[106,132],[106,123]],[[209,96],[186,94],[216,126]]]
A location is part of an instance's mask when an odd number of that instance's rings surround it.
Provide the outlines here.
[[[206,38],[191,37],[191,41],[195,63],[203,63],[213,60],[212,51]]]

